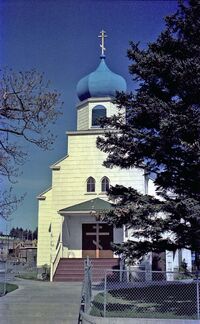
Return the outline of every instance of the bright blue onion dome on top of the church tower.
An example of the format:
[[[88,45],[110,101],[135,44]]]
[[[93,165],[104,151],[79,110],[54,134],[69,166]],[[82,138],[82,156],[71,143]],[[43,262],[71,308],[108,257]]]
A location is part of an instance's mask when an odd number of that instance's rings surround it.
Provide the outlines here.
[[[101,56],[98,68],[82,78],[77,84],[80,101],[88,98],[115,97],[116,91],[126,91],[126,81],[113,73],[106,65],[105,56]]]

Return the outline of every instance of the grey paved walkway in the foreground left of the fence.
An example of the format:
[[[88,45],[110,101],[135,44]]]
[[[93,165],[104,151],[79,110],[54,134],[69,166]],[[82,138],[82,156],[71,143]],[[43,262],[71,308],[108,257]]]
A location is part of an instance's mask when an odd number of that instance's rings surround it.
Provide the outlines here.
[[[82,283],[17,279],[0,298],[1,324],[77,324]]]

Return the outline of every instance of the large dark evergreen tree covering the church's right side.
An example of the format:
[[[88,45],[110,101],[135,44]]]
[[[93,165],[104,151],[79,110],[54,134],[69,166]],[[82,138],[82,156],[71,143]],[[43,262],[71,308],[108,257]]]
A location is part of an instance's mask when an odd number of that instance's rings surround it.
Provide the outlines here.
[[[105,219],[134,230],[114,248],[133,259],[149,251],[200,251],[200,2],[179,2],[165,21],[147,49],[130,44],[130,73],[139,87],[117,94],[119,115],[102,121],[109,131],[97,140],[108,153],[106,167],[155,176],[156,198],[123,186],[109,192],[117,204]]]

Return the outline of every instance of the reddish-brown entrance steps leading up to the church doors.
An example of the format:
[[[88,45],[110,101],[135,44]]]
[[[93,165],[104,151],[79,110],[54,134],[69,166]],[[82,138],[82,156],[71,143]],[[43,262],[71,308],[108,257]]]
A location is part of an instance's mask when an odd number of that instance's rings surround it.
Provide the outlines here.
[[[61,258],[53,277],[53,281],[83,281],[84,278],[84,260],[82,258]],[[119,269],[118,258],[90,259],[92,263],[92,281],[99,282],[104,279],[105,270],[109,269],[109,275],[112,275],[112,269]]]

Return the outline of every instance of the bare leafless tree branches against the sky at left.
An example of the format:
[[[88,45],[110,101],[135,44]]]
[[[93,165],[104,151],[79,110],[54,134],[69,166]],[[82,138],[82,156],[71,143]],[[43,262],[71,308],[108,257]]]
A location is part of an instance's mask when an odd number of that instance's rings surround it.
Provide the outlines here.
[[[23,139],[43,150],[51,148],[50,130],[61,113],[60,95],[51,90],[43,74],[5,69],[0,75],[0,175],[11,183],[27,157]],[[20,142],[20,143],[19,143]],[[0,192],[0,216],[7,219],[23,197],[12,189]]]

